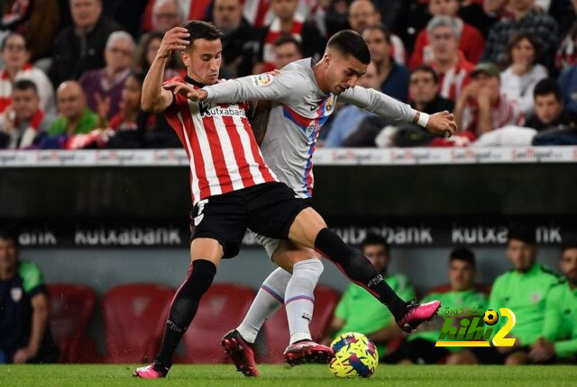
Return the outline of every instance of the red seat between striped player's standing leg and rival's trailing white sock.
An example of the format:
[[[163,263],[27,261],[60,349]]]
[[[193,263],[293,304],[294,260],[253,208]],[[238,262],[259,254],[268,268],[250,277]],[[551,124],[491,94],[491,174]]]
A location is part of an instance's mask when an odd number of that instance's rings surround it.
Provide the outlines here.
[[[227,361],[220,339],[236,328],[251,307],[254,290],[234,284],[213,284],[198,306],[195,320],[184,335],[186,354],[179,363],[223,363]]]

